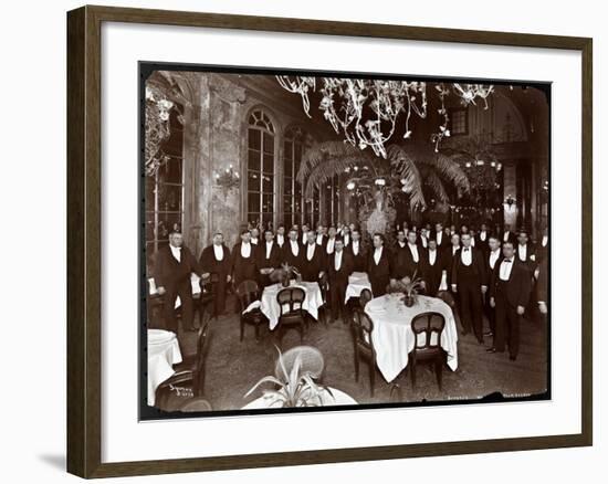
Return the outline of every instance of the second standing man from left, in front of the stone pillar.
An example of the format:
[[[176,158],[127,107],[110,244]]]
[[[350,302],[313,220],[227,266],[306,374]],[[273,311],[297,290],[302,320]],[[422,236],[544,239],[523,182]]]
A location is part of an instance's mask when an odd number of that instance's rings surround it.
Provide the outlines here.
[[[202,278],[206,280],[211,274],[216,274],[218,282],[213,286],[213,315],[216,317],[226,312],[226,290],[231,281],[231,259],[230,250],[223,244],[221,232],[213,234],[213,243],[202,250],[199,259]]]

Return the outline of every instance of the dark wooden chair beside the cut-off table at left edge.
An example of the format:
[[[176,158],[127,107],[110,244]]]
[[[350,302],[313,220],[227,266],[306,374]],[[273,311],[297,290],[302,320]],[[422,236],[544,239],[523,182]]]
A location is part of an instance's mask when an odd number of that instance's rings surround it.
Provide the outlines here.
[[[155,407],[164,411],[180,410],[191,398],[202,397],[205,390],[206,359],[209,347],[209,324],[200,327],[197,335],[197,351],[175,365],[176,372],[156,389]]]

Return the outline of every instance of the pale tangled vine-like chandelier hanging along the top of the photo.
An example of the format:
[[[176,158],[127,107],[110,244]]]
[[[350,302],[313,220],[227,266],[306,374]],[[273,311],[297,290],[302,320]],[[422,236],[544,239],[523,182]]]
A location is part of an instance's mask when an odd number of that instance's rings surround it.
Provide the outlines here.
[[[426,118],[427,83],[387,80],[363,80],[339,77],[312,77],[277,75],[276,81],[290,93],[300,94],[304,112],[311,117],[311,101],[308,94],[317,90],[323,96],[319,109],[336,133],[343,133],[345,139],[353,146],[365,149],[371,147],[377,156],[386,158],[386,143],[397,128],[397,119],[405,113],[403,138],[411,136],[410,118],[412,114]],[[448,129],[448,111],[444,98],[457,95],[463,105],[475,104],[481,98],[488,108],[488,96],[493,92],[492,85],[451,84],[447,87],[436,85],[441,107],[438,109],[443,118],[439,130],[432,135],[436,151],[444,137],[450,136]]]

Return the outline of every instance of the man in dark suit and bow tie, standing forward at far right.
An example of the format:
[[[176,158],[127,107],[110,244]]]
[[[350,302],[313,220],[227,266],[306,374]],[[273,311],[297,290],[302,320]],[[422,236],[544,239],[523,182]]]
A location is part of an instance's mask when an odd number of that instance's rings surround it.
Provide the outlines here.
[[[496,332],[490,353],[503,353],[509,344],[510,359],[520,351],[520,324],[530,299],[530,272],[515,257],[512,242],[503,243],[503,260],[492,273],[490,304],[496,308]]]

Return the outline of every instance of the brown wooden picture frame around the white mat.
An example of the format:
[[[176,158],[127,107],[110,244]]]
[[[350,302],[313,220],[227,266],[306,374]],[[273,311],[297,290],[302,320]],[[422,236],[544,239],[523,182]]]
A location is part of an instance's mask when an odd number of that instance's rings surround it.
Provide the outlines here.
[[[102,463],[101,28],[127,22],[574,50],[581,53],[581,431],[578,434]],[[593,443],[593,41],[436,28],[83,7],[67,13],[67,471],[106,477],[584,446]]]

